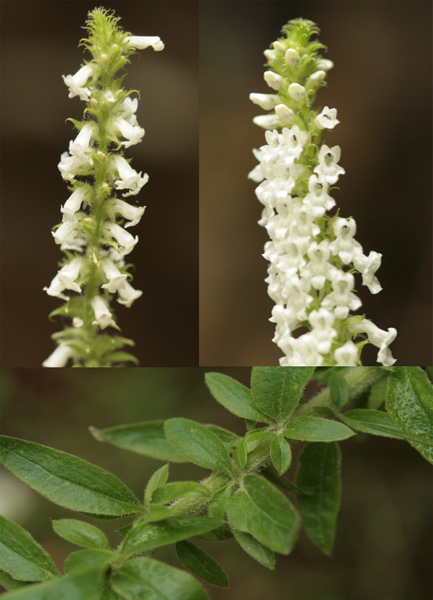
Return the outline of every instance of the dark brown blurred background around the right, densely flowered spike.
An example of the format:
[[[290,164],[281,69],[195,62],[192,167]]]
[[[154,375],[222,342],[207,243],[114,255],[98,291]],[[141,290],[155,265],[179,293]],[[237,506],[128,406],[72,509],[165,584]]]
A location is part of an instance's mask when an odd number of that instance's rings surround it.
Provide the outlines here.
[[[264,132],[250,92],[269,92],[263,50],[290,19],[315,21],[335,63],[317,106],[335,107],[326,132],[346,170],[334,194],[357,222],[364,251],[382,253],[362,311],[395,327],[399,365],[431,364],[432,4],[424,1],[202,2],[200,5],[200,364],[276,364],[268,322],[268,239],[247,180]],[[377,349],[366,347],[364,364]]]

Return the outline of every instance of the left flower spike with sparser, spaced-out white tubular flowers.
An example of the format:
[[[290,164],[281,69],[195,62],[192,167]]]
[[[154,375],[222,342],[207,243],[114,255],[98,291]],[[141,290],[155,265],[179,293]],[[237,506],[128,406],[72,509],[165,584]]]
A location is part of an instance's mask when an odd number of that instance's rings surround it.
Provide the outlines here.
[[[45,367],[137,363],[124,351],[133,341],[111,333],[120,331],[111,303],[117,296],[129,307],[142,295],[130,283],[125,257],[138,241],[127,228],[138,224],[144,207],[124,199],[136,196],[149,176],[135,171],[123,156],[124,148],[142,140],[144,129],[135,114],[138,100],[122,87],[118,72],[137,49],[159,51],[164,44],[157,36],[132,36],[118,21],[104,8],[91,11],[88,37],[81,40],[91,59],[75,75],[63,75],[69,98],[78,97],[86,108],[82,121],[68,119],[78,135],[58,165],[70,196],[53,237],[65,257],[44,290],[65,301],[50,317],[61,315],[69,323],[53,335],[57,348]]]

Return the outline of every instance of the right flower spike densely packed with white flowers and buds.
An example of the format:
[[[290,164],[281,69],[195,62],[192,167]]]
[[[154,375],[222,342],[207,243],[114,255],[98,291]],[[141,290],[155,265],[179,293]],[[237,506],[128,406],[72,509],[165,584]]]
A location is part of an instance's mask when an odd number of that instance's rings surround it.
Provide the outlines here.
[[[259,224],[271,238],[263,256],[270,263],[266,282],[275,302],[273,341],[284,353],[284,366],[361,365],[367,343],[379,348],[378,362],[390,366],[396,329],[384,331],[353,314],[362,305],[355,275],[372,294],[380,292],[375,273],[382,255],[364,254],[353,218],[329,213],[335,208],[333,186],[345,171],[340,147],[321,144],[323,131],[339,123],[337,110],[312,108],[333,67],[320,55],[325,46],[311,39],[318,32],[311,21],[290,21],[284,37],[264,53],[264,79],[273,93],[250,94],[268,111],[253,119],[266,130],[266,145],[254,150],[259,164],[249,178],[259,183],[256,195],[264,205]]]

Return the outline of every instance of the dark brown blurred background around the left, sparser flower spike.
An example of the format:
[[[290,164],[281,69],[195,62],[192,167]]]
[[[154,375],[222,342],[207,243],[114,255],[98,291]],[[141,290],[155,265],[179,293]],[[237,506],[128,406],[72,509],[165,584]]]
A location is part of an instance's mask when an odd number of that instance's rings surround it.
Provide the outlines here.
[[[57,169],[85,103],[69,99],[62,74],[83,62],[79,41],[99,2],[1,2],[2,359],[38,367],[61,330],[48,313],[61,304],[42,291],[63,256],[51,228],[69,196]],[[143,296],[129,309],[114,303],[122,333],[136,342],[142,365],[198,364],[198,5],[103,2],[134,35],[159,35],[163,52],[131,57],[126,89],[140,91],[141,144],[128,148],[149,183],[133,228],[139,243],[128,259]],[[133,199],[134,200],[134,199]]]

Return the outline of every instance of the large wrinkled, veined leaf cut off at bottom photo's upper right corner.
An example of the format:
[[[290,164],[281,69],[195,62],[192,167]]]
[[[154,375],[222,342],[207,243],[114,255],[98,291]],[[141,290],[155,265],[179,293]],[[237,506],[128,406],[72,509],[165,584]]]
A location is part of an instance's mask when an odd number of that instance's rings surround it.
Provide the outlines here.
[[[433,387],[420,367],[396,367],[388,379],[386,408],[397,427],[409,436],[425,459],[433,463]]]

